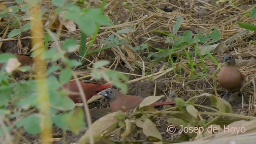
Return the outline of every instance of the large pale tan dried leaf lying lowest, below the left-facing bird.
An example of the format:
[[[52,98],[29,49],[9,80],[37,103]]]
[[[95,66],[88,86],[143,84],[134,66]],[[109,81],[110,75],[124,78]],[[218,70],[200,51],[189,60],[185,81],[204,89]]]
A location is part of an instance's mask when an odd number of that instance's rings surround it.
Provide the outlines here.
[[[118,124],[118,118],[116,117],[116,114],[118,112],[113,112],[110,114],[107,114],[106,116],[103,116],[102,118],[98,119],[96,122],[94,122],[90,129],[87,130],[87,132],[80,138],[78,144],[87,144],[90,141],[90,132],[92,133],[94,142],[101,142],[104,140],[104,135],[112,132],[116,129],[116,126]]]

